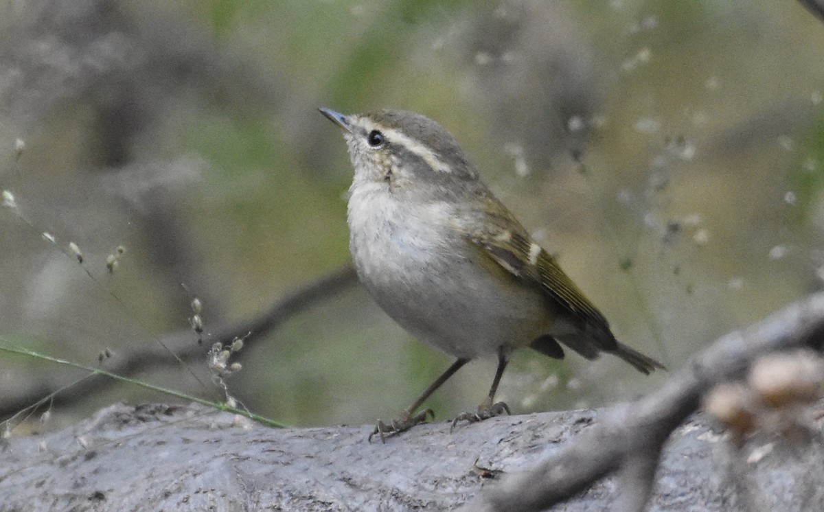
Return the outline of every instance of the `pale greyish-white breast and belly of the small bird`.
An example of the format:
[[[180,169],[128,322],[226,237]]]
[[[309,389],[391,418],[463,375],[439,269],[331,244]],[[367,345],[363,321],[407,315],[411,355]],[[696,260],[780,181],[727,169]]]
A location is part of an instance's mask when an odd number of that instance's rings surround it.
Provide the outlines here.
[[[376,182],[353,184],[350,193],[358,276],[414,336],[452,356],[475,357],[531,342],[550,323],[537,291],[501,286],[480,266],[452,205],[412,207]]]

